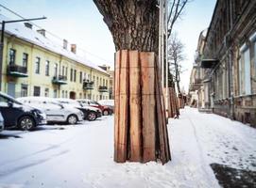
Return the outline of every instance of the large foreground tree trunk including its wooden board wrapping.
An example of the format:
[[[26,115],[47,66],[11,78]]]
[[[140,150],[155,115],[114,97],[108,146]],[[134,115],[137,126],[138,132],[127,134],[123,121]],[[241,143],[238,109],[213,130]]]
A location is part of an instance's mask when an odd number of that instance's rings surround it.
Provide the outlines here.
[[[170,159],[157,56],[157,0],[94,0],[115,49],[114,161]],[[140,122],[139,122],[140,121]]]

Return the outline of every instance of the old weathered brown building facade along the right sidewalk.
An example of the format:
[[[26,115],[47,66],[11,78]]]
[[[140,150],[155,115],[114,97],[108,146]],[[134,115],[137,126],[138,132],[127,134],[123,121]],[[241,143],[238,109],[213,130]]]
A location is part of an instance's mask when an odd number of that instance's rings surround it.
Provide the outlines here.
[[[218,0],[205,42],[209,107],[256,126],[256,1]]]

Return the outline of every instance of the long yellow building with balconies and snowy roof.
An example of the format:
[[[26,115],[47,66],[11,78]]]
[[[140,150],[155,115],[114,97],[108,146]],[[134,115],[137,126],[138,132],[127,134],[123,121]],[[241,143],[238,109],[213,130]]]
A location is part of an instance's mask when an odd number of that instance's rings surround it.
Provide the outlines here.
[[[32,25],[6,24],[1,90],[17,98],[109,99],[110,75]]]

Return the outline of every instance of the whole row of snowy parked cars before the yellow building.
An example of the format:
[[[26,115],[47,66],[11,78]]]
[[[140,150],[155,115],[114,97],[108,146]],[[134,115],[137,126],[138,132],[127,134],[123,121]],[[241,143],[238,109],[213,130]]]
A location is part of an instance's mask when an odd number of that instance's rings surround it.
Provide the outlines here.
[[[103,103],[107,101],[102,101]],[[43,124],[77,124],[113,113],[113,102],[102,105],[87,99],[71,100],[47,97],[13,99],[0,92],[0,131],[11,128],[30,131]]]

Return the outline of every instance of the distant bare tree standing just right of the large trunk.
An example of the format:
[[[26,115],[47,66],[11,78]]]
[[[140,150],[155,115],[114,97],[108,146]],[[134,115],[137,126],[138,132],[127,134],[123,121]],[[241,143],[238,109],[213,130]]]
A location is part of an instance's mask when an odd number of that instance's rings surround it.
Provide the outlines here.
[[[171,39],[169,39],[169,49],[168,49],[168,58],[170,62],[170,67],[173,68],[172,73],[174,75],[174,82],[177,84],[178,93],[180,93],[180,73],[182,72],[182,66],[180,62],[185,59],[184,45],[177,38],[177,35],[174,35]]]

